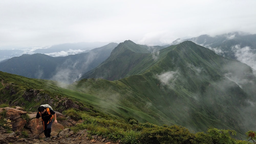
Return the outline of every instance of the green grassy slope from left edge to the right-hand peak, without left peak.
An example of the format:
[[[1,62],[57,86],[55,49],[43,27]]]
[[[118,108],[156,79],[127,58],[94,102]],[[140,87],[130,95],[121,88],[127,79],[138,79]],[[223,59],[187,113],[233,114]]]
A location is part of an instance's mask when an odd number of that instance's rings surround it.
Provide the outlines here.
[[[134,73],[140,69],[137,75],[116,81],[83,79],[67,89],[57,87],[53,81],[27,79],[7,73],[0,76],[4,81],[17,85],[17,88],[21,87],[19,95],[28,88],[44,89],[53,98],[56,95],[72,97],[121,118],[133,116],[140,123],[179,124],[195,131],[205,131],[209,126],[241,133],[249,129],[243,121],[248,117],[243,117],[246,115],[241,113],[246,105],[245,99],[251,96],[223,76],[225,72],[232,72],[230,69],[222,69],[229,62],[236,63],[239,68],[244,66],[242,63],[219,57],[190,42],[161,50],[158,60],[150,61],[151,54],[142,55],[145,58],[135,65],[137,68],[132,69]],[[157,79],[157,75],[164,72],[176,72],[175,79],[164,84]],[[255,77],[251,79],[255,81]],[[224,87],[225,84],[228,87]],[[6,92],[3,86],[0,88]],[[8,95],[1,95],[2,99]],[[15,98],[20,98],[19,95]],[[14,96],[9,100],[17,101]],[[19,101],[25,100],[21,98]],[[38,104],[26,105],[35,107]],[[250,126],[255,127],[253,123]]]

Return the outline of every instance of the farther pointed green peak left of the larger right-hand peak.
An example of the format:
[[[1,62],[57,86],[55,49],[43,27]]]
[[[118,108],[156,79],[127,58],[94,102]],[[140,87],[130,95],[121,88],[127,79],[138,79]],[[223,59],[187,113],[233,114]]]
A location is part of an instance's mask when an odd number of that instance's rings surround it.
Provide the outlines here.
[[[138,62],[145,60],[149,55],[149,51],[138,46],[136,43],[126,40],[120,43],[110,54],[109,58],[101,63],[95,70],[81,76],[83,78],[104,78],[107,80],[118,80],[130,73],[131,69],[141,71],[137,67]],[[151,60],[152,59],[148,59]]]

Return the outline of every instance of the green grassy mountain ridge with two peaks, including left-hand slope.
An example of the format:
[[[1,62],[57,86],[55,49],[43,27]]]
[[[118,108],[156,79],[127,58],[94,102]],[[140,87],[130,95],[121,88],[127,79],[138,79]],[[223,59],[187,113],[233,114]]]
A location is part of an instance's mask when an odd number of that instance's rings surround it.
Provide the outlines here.
[[[158,48],[152,51],[124,41],[105,61],[65,89],[52,81],[1,72],[0,90],[5,97],[12,97],[6,100],[9,104],[25,104],[27,108],[35,105],[27,103],[22,92],[13,93],[15,88],[43,89],[54,102],[59,102],[58,96],[68,97],[80,107],[90,105],[140,123],[176,124],[196,132],[209,127],[232,129],[238,135],[256,128],[256,77],[251,67],[192,41]],[[8,82],[6,88],[3,83]],[[38,98],[30,101],[33,99]]]

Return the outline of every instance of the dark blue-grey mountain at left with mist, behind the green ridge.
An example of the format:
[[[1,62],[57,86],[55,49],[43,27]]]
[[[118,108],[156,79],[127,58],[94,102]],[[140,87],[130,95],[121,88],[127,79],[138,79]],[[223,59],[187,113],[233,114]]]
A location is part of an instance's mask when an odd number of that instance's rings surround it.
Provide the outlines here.
[[[24,54],[1,62],[0,70],[29,78],[72,83],[81,74],[97,67],[106,60],[117,45],[117,43],[110,43],[87,53],[66,57],[50,57],[39,53]]]

